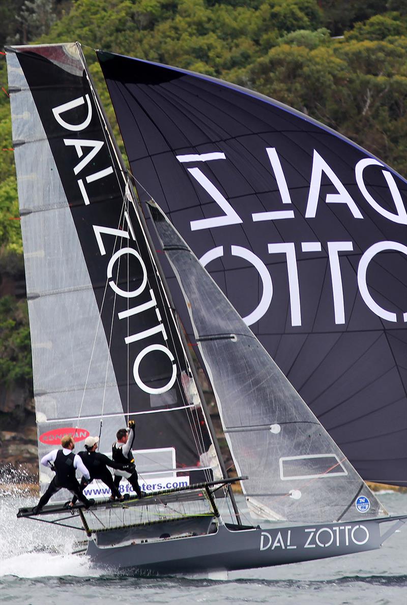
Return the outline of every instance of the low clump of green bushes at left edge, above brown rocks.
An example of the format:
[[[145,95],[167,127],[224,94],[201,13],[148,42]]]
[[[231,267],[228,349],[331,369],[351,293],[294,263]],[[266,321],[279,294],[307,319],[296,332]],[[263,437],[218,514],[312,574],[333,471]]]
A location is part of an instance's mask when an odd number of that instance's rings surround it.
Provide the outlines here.
[[[27,302],[3,296],[0,298],[0,382],[24,383],[31,379]]]

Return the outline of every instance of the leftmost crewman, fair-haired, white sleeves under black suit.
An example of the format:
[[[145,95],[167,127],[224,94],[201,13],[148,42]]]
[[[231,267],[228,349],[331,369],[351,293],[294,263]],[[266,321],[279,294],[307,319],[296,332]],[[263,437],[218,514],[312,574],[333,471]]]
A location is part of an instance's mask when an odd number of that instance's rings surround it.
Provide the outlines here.
[[[81,471],[85,479],[90,479],[90,474],[78,454],[73,453],[75,446],[72,435],[65,435],[61,439],[62,450],[52,450],[41,458],[42,466],[48,466],[55,471],[55,477],[48,485],[48,489],[39,499],[38,505],[33,508],[37,514],[45,506],[50,497],[60,489],[65,488],[73,492],[76,497],[84,503],[86,508],[94,504],[94,500],[88,500],[82,493],[82,488],[76,479],[76,469]]]

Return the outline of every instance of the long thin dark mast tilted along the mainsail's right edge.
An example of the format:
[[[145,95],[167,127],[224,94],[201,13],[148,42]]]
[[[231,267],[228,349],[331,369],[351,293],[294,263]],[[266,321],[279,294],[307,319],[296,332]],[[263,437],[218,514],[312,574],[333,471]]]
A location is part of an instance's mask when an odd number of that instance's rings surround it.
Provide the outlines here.
[[[110,138],[111,145],[112,145],[112,147],[114,149],[114,152],[116,154],[117,163],[119,164],[119,166],[121,166],[123,180],[126,183],[125,175],[128,175],[127,168],[124,165],[121,152],[119,150],[119,147],[117,146],[116,139],[114,138],[113,132],[112,132],[111,127],[110,127],[110,124],[109,124],[107,116],[105,114],[105,111],[104,111],[104,108],[103,108],[103,105],[102,105],[102,102],[101,102],[101,98],[99,97],[98,91],[96,90],[96,87],[94,86],[94,83],[93,83],[93,80],[91,78],[91,75],[90,75],[90,73],[87,70],[87,64],[86,64],[84,53],[83,53],[82,48],[81,48],[81,44],[79,44],[79,42],[76,42],[76,45],[78,47],[78,51],[79,51],[79,54],[80,54],[81,59],[82,59],[82,64],[84,65],[84,70],[85,70],[85,74],[86,74],[88,83],[89,83],[91,91],[94,94],[94,97],[96,99],[98,110],[101,113],[101,117],[102,117],[102,119],[104,121],[105,129],[108,132],[108,136]],[[130,191],[131,191],[131,194],[134,195],[133,188],[131,188]],[[211,417],[210,417],[210,413],[209,413],[209,410],[208,410],[208,407],[207,407],[207,404],[206,404],[206,401],[205,401],[204,393],[202,391],[202,387],[200,385],[199,378],[197,376],[197,372],[196,372],[196,368],[195,368],[193,359],[191,358],[191,354],[190,354],[190,351],[188,349],[188,344],[187,344],[187,341],[185,339],[184,330],[182,329],[182,326],[180,325],[178,314],[177,314],[176,309],[175,309],[174,304],[173,304],[173,299],[172,299],[172,296],[171,296],[171,293],[170,293],[170,289],[168,288],[167,280],[165,279],[164,272],[162,271],[162,267],[160,266],[159,259],[157,258],[157,253],[156,253],[153,241],[151,240],[150,232],[148,231],[147,225],[145,223],[145,218],[144,218],[144,214],[143,214],[143,212],[141,210],[141,204],[140,204],[140,201],[138,199],[138,195],[137,195],[137,199],[135,201],[136,201],[136,203],[134,203],[134,208],[136,209],[137,215],[138,215],[139,220],[141,222],[142,230],[144,231],[144,236],[145,236],[145,238],[147,240],[148,247],[150,248],[150,253],[151,253],[152,257],[153,257],[154,264],[156,266],[157,272],[158,272],[159,277],[160,277],[160,281],[162,282],[162,285],[164,287],[165,295],[167,296],[168,303],[170,304],[171,311],[174,313],[174,317],[176,319],[177,330],[179,332],[179,335],[180,335],[180,338],[181,338],[181,341],[182,341],[182,345],[183,345],[183,348],[184,348],[184,352],[185,352],[185,355],[187,356],[188,363],[190,364],[191,372],[193,374],[193,378],[194,378],[194,381],[196,383],[197,391],[198,391],[199,398],[200,398],[200,403],[201,403],[201,406],[202,406],[202,411],[204,413],[205,420],[207,422],[208,430],[210,431],[210,435],[211,435],[211,439],[213,441],[213,445],[214,445],[214,448],[215,448],[215,451],[216,451],[216,455],[217,455],[217,457],[219,459],[219,465],[220,465],[220,468],[222,470],[223,479],[228,479],[227,470],[225,468],[225,463],[223,462],[222,453],[220,452],[219,443],[217,442],[216,433],[215,433],[215,430],[214,430],[214,427],[213,427],[213,423],[212,423],[212,420],[211,420]],[[236,515],[236,521],[237,521],[238,525],[242,525],[242,521],[240,519],[240,514],[239,514],[239,509],[237,508],[236,499],[234,498],[233,490],[231,489],[231,485],[230,484],[228,484],[228,488],[227,489],[228,489],[228,493],[230,495],[230,499],[231,499],[231,503],[232,503],[232,506],[233,506],[234,514]]]

